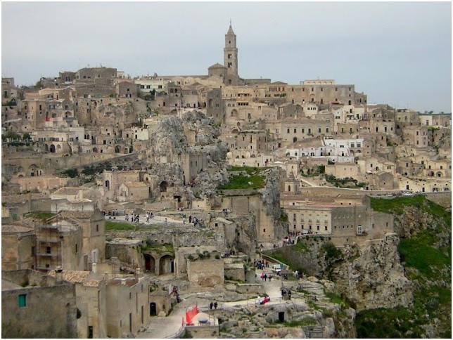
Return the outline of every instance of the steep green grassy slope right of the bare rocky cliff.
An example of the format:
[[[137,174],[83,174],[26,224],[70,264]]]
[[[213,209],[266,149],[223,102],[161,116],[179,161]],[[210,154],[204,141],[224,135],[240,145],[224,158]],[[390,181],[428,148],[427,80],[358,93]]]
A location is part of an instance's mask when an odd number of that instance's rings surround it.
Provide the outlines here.
[[[439,235],[445,237],[447,231],[451,234],[451,213],[423,195],[391,200],[371,198],[375,211],[402,215],[406,206],[416,207],[441,221],[416,235],[402,238],[398,245],[405,275],[414,282],[414,304],[410,308],[380,308],[358,313],[355,325],[359,338],[420,338],[426,336],[423,327],[433,323],[435,318],[440,320],[436,337],[451,338],[451,242],[440,249],[435,247]]]

